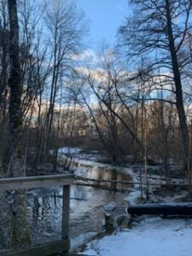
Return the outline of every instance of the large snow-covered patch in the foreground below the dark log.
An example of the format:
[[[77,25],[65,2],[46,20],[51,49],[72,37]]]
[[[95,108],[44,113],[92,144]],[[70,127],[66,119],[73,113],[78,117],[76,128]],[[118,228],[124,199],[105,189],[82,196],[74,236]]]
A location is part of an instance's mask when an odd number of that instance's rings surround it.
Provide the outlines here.
[[[131,230],[91,241],[85,255],[191,256],[191,219],[144,218]],[[80,254],[80,253],[79,253]]]

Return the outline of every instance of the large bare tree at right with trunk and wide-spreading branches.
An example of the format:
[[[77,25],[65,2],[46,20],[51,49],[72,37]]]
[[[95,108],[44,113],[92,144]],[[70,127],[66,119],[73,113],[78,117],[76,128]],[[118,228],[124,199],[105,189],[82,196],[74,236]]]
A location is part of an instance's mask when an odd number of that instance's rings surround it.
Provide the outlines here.
[[[183,165],[188,168],[189,133],[183,103],[183,70],[190,65],[191,1],[131,0],[134,13],[119,28],[119,45],[126,56],[150,55],[150,69],[172,79],[183,142]],[[155,75],[155,73],[154,73]]]

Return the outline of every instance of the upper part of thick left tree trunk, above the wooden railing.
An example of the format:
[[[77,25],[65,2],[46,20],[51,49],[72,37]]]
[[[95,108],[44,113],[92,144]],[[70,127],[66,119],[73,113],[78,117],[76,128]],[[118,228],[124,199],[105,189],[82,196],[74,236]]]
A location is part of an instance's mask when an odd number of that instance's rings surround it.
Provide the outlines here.
[[[11,157],[14,157],[14,165],[10,168],[10,176],[17,177],[23,175],[20,173],[18,166],[21,166],[22,152],[20,148],[21,139],[21,125],[22,125],[22,113],[21,113],[21,96],[22,85],[20,77],[20,56],[19,56],[19,25],[17,18],[17,6],[16,0],[9,0],[9,58],[10,58],[10,102],[9,102],[9,129],[11,136]],[[19,154],[20,148],[20,154]],[[18,154],[17,154],[18,153]],[[16,163],[15,163],[16,161]],[[10,163],[11,164],[11,163]],[[15,168],[14,168],[15,166]]]

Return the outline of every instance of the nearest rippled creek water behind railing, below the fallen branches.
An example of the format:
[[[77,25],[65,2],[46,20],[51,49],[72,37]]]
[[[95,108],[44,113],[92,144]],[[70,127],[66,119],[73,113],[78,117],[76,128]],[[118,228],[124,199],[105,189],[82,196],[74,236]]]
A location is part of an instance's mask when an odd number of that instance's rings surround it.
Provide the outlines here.
[[[33,189],[28,192],[28,220],[32,243],[44,243],[61,238],[62,189]],[[124,194],[85,186],[71,186],[70,238],[88,232],[102,231],[104,205],[116,201],[125,204]]]

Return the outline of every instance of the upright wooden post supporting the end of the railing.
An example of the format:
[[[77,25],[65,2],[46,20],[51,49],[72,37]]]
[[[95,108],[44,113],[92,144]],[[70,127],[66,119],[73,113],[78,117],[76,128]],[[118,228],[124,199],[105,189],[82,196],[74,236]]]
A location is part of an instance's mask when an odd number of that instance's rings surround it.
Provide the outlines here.
[[[69,202],[70,185],[63,186],[62,190],[62,230],[61,238],[67,240],[69,237]]]

